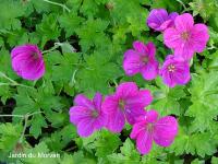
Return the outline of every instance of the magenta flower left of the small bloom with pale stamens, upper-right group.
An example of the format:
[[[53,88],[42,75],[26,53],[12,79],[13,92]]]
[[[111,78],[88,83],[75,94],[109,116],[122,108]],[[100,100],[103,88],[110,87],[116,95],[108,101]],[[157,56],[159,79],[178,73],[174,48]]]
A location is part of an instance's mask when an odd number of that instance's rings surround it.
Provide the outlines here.
[[[124,52],[123,69],[128,75],[142,73],[146,80],[153,80],[158,74],[158,61],[155,59],[156,48],[153,43],[144,45],[133,43],[134,49]]]

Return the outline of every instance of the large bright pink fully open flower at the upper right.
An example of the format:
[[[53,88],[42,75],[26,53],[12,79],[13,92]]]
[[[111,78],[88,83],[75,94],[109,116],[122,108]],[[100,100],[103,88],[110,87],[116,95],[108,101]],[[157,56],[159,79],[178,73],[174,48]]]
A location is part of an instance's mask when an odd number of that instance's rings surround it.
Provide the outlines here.
[[[174,55],[181,60],[190,60],[194,52],[202,52],[209,39],[205,24],[194,24],[189,13],[179,15],[174,20],[174,27],[164,33],[165,44],[174,49]]]

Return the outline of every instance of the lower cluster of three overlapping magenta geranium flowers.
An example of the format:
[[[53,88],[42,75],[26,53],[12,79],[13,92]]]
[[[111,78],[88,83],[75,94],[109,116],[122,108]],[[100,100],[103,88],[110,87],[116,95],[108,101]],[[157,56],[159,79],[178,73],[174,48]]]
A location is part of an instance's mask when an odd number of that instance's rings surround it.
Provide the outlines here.
[[[153,140],[158,145],[169,147],[178,133],[174,117],[160,118],[156,110],[145,110],[152,101],[148,90],[138,90],[134,82],[123,82],[105,101],[99,93],[93,101],[78,94],[74,98],[74,106],[70,108],[70,121],[76,125],[81,137],[88,137],[104,127],[112,132],[121,132],[126,121],[133,126],[130,137],[136,140],[137,150],[147,154]]]

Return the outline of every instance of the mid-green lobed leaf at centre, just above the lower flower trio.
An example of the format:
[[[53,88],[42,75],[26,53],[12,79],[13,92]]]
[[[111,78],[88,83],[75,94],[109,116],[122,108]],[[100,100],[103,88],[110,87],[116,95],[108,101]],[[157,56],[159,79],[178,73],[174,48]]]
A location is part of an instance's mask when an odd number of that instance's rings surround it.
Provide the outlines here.
[[[107,93],[109,81],[121,75],[120,68],[110,62],[110,57],[96,52],[86,57],[86,65],[78,72],[80,89],[83,91],[99,91]]]

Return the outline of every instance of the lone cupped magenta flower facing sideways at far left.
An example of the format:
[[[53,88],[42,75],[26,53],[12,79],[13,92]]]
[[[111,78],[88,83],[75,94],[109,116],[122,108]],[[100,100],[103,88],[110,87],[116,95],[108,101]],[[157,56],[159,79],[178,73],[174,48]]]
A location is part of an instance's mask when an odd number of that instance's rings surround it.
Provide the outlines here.
[[[38,80],[45,73],[41,51],[36,45],[17,46],[11,51],[12,68],[26,80]]]

